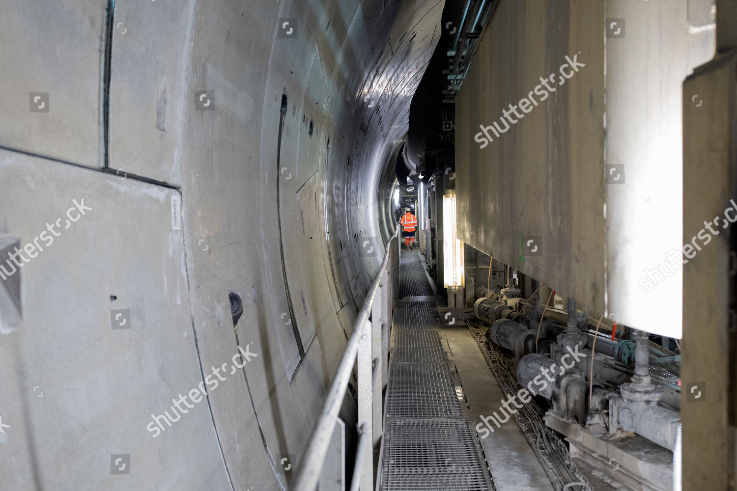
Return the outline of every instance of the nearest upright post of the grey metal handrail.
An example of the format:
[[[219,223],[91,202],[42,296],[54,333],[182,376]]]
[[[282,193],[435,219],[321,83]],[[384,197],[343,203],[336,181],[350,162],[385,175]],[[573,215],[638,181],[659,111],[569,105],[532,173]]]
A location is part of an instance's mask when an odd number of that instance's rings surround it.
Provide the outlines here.
[[[374,434],[373,428],[373,357],[371,356],[372,333],[371,321],[366,319],[363,326],[357,326],[362,329],[362,333],[358,339],[358,428],[363,428],[368,438],[369,448],[363,453],[363,462],[361,462],[360,490],[371,491],[374,487],[374,452],[371,445]]]

